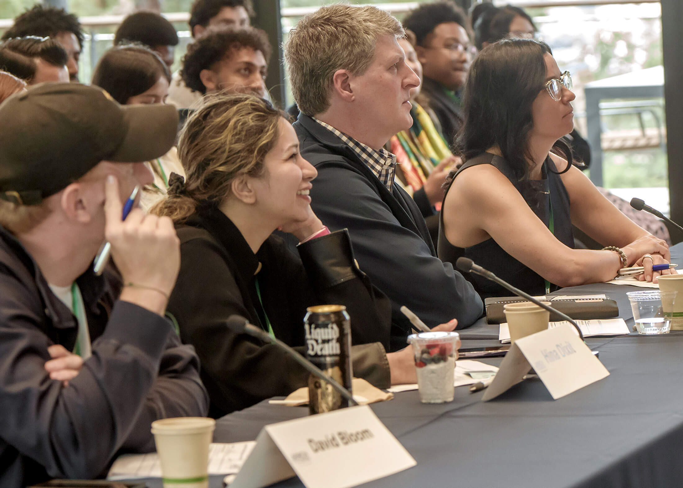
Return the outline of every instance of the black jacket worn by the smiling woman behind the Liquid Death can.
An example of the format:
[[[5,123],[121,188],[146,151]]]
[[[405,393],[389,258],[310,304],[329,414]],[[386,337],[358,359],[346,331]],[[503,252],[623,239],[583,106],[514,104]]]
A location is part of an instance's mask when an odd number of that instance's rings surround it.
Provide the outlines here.
[[[389,301],[354,265],[346,232],[303,243],[299,256],[271,235],[253,254],[234,223],[210,204],[199,206],[177,230],[181,265],[169,312],[178,321],[183,342],[197,349],[211,416],[288,395],[308,378],[281,349],[227,329],[225,321],[232,314],[264,330],[267,315],[275,336],[296,347],[305,344],[308,306],[345,305],[353,343],[365,344],[353,348],[354,376],[389,388],[389,364],[378,343],[389,336]]]

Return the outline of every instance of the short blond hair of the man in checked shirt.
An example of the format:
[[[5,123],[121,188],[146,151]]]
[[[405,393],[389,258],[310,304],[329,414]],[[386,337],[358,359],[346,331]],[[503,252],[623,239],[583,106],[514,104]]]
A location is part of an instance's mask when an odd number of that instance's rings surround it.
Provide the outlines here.
[[[314,116],[329,108],[337,70],[361,75],[372,63],[379,36],[404,36],[401,23],[370,5],[335,3],[296,24],[285,44],[285,61],[299,111]]]

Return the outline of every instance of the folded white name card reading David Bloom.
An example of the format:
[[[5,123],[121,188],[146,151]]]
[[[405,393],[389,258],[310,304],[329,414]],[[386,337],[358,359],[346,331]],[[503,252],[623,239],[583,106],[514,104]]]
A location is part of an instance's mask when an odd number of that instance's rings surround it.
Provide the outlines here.
[[[229,488],[262,488],[295,474],[307,488],[348,488],[415,464],[365,405],[265,426]]]

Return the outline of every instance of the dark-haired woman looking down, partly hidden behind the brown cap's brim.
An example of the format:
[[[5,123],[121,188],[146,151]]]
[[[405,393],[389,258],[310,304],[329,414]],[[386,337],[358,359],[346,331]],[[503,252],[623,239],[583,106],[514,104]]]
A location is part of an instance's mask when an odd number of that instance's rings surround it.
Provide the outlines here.
[[[171,83],[171,72],[161,57],[141,44],[115,46],[100,58],[92,76],[92,84],[107,90],[121,105],[165,103]],[[178,151],[171,148],[161,158],[145,163],[154,183],[145,187],[140,204],[145,210],[165,197],[169,176],[184,176]]]

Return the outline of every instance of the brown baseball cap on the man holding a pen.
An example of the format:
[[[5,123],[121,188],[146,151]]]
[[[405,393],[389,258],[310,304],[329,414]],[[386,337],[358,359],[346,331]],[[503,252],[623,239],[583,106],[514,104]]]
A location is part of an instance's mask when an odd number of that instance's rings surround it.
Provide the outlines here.
[[[38,204],[100,161],[161,157],[177,128],[171,105],[119,105],[79,83],[36,85],[0,105],[0,198]]]

